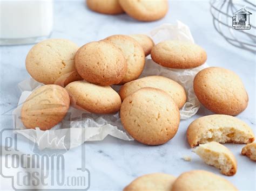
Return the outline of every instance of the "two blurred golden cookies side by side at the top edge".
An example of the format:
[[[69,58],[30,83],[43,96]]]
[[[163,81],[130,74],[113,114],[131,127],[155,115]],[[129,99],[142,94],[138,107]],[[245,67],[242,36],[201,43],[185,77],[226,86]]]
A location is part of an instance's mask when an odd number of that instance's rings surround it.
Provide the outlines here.
[[[130,17],[150,22],[163,18],[168,11],[168,1],[158,0],[86,0],[87,7],[92,11],[117,15],[126,12]]]

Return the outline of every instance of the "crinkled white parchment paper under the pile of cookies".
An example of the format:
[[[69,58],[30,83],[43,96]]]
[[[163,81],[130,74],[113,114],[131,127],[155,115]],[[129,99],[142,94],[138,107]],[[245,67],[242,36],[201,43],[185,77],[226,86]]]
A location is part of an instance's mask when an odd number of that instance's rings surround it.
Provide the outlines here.
[[[176,24],[163,24],[156,27],[156,29],[153,29],[149,33],[149,36],[152,37],[154,43],[164,40],[185,40],[194,43],[188,26],[179,21]],[[150,56],[148,56],[141,77],[161,75],[180,83],[187,93],[187,102],[180,110],[180,116],[181,119],[187,119],[196,114],[200,107],[200,103],[193,91],[194,76],[206,67],[208,66],[204,64],[193,69],[169,69],[154,63]],[[119,113],[95,115],[72,107],[69,109],[69,114],[66,118],[51,130],[42,131],[39,128],[26,129],[20,119],[22,104],[33,89],[42,85],[33,79],[24,80],[19,83],[18,86],[22,91],[22,95],[19,98],[18,107],[12,113],[14,116],[14,125],[20,129],[15,130],[15,132],[22,134],[33,143],[36,143],[40,150],[44,148],[68,149],[79,146],[86,141],[103,140],[107,135],[123,140],[133,140],[123,129]],[[120,87],[114,86],[113,88],[118,90]]]

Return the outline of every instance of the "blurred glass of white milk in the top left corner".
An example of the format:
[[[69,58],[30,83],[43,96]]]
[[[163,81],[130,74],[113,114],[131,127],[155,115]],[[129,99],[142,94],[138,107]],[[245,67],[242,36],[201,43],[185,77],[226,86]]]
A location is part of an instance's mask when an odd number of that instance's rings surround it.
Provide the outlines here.
[[[0,0],[0,45],[37,43],[52,25],[52,0]]]

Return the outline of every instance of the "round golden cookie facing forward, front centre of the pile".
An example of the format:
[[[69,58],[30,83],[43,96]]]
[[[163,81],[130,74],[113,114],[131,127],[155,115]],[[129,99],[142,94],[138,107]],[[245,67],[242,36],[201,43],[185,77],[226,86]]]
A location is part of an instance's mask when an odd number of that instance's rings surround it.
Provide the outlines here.
[[[171,96],[149,87],[124,99],[120,117],[125,130],[146,145],[168,142],[176,135],[180,121],[179,108]]]

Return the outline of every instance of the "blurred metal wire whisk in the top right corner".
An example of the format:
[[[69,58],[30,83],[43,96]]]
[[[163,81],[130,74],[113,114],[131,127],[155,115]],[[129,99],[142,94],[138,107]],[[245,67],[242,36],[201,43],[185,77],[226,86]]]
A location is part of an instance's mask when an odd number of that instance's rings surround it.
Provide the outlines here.
[[[232,26],[234,12],[246,8],[246,10],[256,14],[256,5],[255,2],[253,2],[254,1],[211,0],[210,4],[213,24],[218,33],[233,46],[256,53],[256,27],[253,17],[250,17],[250,30],[235,30]]]

